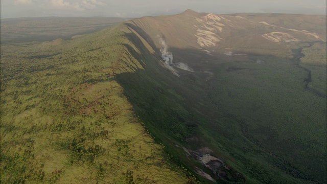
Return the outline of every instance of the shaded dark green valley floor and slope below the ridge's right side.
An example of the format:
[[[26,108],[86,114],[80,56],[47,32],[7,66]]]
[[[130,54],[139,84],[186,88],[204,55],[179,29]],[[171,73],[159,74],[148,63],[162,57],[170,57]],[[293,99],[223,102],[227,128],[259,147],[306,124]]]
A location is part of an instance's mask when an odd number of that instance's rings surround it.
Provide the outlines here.
[[[135,36],[129,40],[141,42]],[[171,50],[175,58],[205,58],[196,50]],[[142,51],[135,58],[143,60],[146,48]],[[177,78],[159,70],[154,57],[145,62],[145,70],[120,74],[118,81],[146,127],[191,168],[200,166],[182,150],[174,151],[179,148],[172,140],[190,149],[213,149],[250,183],[325,182],[326,101],[306,88],[311,85],[308,68],[272,56],[249,56],[243,62],[210,59],[210,80],[201,72],[180,71]],[[313,81],[323,78],[324,68],[311,68]]]

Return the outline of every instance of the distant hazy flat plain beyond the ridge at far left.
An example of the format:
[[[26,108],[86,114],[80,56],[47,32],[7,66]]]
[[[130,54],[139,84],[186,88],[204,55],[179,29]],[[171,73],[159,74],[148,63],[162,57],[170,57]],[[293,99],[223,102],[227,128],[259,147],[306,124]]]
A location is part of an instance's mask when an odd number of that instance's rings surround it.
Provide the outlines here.
[[[1,43],[70,39],[128,20],[117,17],[38,17],[1,19]]]

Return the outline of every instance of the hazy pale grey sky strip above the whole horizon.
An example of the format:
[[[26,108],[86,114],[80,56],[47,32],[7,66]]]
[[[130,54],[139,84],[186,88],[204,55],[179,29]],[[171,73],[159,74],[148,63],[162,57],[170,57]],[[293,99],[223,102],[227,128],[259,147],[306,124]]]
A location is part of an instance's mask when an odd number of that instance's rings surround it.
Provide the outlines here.
[[[1,18],[40,16],[141,17],[181,13],[326,14],[326,0],[1,0]]]

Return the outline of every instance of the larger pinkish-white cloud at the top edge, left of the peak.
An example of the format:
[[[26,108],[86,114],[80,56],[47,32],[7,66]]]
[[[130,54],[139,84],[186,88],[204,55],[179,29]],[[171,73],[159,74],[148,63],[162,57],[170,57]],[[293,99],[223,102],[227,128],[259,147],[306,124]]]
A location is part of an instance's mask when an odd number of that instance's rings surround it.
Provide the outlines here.
[[[52,8],[60,10],[77,10],[95,9],[97,6],[106,4],[97,0],[67,1],[67,0],[49,0]]]

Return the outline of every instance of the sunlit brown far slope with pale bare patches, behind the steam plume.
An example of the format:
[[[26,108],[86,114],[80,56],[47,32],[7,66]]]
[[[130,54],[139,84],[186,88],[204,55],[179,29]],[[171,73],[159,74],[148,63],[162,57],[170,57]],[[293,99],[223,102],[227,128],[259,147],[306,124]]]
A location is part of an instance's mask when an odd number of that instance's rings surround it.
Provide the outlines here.
[[[279,21],[277,21],[279,20]],[[283,20],[283,21],[281,21]],[[132,21],[160,48],[158,36],[172,48],[201,48],[212,52],[290,55],[291,41],[326,41],[326,17],[313,15],[216,15],[192,10],[174,16]],[[292,47],[293,48],[293,47]]]

